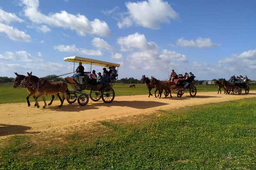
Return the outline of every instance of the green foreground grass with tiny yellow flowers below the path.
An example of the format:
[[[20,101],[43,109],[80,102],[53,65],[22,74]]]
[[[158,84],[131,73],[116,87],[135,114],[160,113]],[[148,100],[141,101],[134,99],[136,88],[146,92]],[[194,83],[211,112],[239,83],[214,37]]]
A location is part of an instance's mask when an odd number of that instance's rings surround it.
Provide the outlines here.
[[[103,134],[74,131],[47,147],[14,136],[0,149],[0,169],[253,170],[255,99],[159,111],[140,124],[103,121]]]

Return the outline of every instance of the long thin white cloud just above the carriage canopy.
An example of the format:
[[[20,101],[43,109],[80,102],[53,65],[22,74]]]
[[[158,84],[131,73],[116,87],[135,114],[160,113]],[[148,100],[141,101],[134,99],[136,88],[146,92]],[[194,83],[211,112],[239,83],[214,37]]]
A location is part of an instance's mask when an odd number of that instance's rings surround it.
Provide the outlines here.
[[[60,52],[70,52],[70,53],[77,53],[86,56],[102,56],[102,52],[100,50],[88,50],[83,48],[76,48],[75,45],[65,46],[65,45],[58,45],[54,46],[54,49],[59,50]]]

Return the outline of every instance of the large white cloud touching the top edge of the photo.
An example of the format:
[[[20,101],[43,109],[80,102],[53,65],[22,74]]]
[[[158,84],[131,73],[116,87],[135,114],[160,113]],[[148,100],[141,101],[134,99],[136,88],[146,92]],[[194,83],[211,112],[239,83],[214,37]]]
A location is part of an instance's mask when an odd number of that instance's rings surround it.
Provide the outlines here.
[[[171,5],[163,0],[147,0],[140,2],[127,2],[128,17],[118,23],[120,28],[131,26],[131,21],[137,25],[159,29],[161,23],[170,23],[171,19],[178,18],[178,14]]]

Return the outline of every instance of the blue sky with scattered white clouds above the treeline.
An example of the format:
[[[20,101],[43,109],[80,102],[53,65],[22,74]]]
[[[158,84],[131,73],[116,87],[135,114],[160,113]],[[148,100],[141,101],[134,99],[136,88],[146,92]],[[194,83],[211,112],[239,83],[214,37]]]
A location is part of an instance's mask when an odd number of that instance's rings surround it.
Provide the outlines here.
[[[61,75],[73,71],[64,57],[81,56],[119,63],[119,78],[163,80],[174,69],[255,80],[255,9],[255,0],[1,0],[0,76]]]

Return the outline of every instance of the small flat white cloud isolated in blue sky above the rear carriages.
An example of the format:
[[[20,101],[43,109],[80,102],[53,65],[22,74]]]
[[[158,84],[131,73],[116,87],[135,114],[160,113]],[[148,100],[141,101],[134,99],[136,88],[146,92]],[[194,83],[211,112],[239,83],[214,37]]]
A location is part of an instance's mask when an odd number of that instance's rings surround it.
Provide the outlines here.
[[[212,47],[219,46],[219,44],[214,44],[211,41],[211,39],[202,38],[202,37],[197,37],[195,41],[180,38],[177,40],[176,45],[183,46],[183,47],[197,47],[197,48],[212,48]]]

